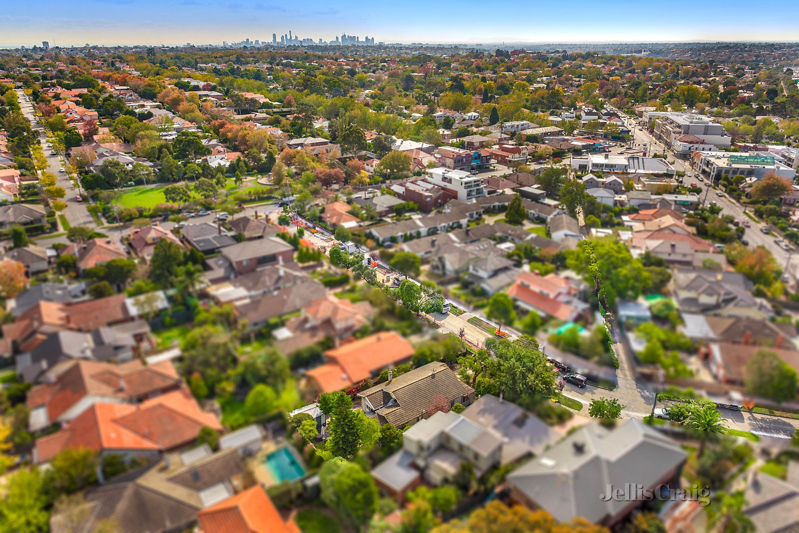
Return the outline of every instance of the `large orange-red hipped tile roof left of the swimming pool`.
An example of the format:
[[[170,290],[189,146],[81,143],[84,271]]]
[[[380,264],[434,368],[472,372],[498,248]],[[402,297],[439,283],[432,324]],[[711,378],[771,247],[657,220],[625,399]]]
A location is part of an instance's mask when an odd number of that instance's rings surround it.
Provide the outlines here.
[[[201,428],[221,430],[185,389],[140,405],[93,404],[53,435],[36,440],[34,460],[46,463],[66,447],[94,451],[166,451],[197,438]]]

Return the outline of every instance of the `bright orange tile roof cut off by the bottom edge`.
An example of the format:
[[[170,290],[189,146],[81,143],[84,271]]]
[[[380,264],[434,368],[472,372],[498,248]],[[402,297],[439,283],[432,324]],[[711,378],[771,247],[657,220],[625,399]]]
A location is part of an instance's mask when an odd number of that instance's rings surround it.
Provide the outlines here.
[[[290,533],[295,531],[280,516],[260,485],[197,513],[204,533]]]

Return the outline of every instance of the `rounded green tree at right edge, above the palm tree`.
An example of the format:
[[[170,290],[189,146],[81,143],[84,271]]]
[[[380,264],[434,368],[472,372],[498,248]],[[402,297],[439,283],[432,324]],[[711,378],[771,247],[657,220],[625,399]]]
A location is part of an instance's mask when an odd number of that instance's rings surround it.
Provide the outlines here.
[[[767,349],[758,350],[745,365],[746,392],[779,404],[797,396],[797,371]]]

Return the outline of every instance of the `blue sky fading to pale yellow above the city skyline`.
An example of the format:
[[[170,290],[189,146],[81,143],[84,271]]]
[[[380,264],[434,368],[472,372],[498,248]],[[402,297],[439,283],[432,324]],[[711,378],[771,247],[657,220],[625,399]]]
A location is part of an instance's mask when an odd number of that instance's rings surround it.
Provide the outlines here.
[[[0,0],[0,46],[799,41],[797,0]]]

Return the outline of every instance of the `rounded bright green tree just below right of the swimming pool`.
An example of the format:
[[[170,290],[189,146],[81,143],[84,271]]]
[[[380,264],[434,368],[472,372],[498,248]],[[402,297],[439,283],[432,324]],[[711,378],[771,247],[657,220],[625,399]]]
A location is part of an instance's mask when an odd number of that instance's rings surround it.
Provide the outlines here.
[[[363,467],[337,459],[324,463],[319,472],[320,495],[345,523],[360,530],[377,511],[380,494]]]

